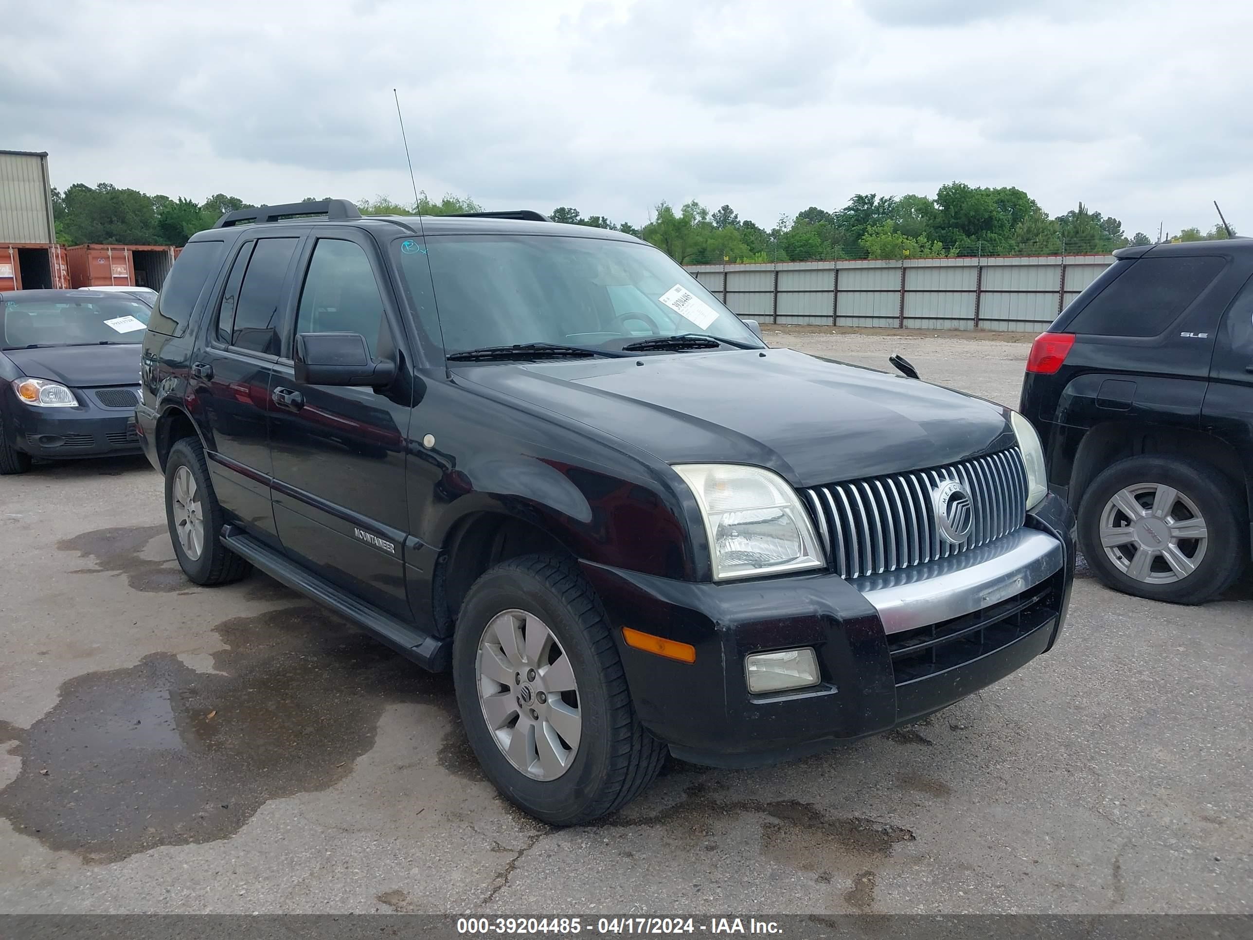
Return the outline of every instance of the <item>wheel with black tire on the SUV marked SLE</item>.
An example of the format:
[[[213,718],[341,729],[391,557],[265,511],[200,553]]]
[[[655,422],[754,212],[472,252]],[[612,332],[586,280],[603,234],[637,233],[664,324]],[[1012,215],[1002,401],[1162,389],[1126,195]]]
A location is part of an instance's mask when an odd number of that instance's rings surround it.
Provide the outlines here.
[[[1084,493],[1079,545],[1106,587],[1150,600],[1202,604],[1227,590],[1248,563],[1244,506],[1244,495],[1204,461],[1128,457]],[[1136,510],[1141,521],[1133,523]],[[1203,539],[1179,538],[1200,533]]]

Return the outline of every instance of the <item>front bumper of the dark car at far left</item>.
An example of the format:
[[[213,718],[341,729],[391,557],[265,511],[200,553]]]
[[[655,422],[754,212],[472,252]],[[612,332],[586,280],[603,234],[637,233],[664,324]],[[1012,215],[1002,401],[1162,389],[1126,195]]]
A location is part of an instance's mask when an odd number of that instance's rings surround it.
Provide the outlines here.
[[[24,454],[50,460],[138,454],[134,407],[103,407],[95,390],[75,390],[76,407],[34,407],[9,394],[9,444]]]

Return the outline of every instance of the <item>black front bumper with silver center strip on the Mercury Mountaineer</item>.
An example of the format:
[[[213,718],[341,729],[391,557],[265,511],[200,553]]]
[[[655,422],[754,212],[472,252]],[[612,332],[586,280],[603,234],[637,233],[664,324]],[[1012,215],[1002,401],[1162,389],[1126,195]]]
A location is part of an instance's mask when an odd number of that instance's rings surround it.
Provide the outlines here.
[[[1024,530],[965,555],[856,587],[833,574],[697,584],[584,570],[615,628],[697,649],[690,664],[663,659],[614,630],[644,726],[683,760],[747,767],[908,723],[1051,648],[1074,578],[1070,509],[1049,496]],[[744,657],[793,647],[814,648],[822,683],[749,693]]]

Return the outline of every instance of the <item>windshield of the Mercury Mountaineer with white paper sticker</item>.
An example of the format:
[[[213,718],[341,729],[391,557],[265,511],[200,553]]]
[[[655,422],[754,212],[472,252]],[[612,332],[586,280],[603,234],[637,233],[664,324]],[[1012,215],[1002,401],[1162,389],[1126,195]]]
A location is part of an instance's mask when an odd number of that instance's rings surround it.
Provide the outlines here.
[[[620,350],[654,336],[761,341],[695,278],[647,244],[553,236],[432,236],[396,257],[449,355],[520,343]],[[427,273],[427,266],[430,266]],[[435,288],[437,325],[422,303]]]

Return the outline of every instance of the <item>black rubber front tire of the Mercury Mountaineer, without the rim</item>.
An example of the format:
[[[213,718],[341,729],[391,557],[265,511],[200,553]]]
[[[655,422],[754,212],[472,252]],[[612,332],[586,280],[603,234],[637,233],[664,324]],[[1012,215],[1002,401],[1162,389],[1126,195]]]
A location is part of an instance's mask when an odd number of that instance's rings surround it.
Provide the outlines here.
[[[520,632],[514,634],[517,638],[530,637],[530,632],[538,629],[536,620],[546,628],[553,645],[559,648],[558,653],[568,659],[569,672],[578,686],[575,699],[581,732],[571,748],[573,755],[568,755],[565,770],[558,771],[555,777],[535,778],[515,766],[506,756],[500,736],[509,733],[510,743],[516,739],[517,728],[523,727],[521,712],[517,712],[517,723],[511,731],[501,728],[494,733],[489,727],[487,707],[480,698],[480,688],[494,682],[480,677],[480,647],[485,638],[492,642],[501,635],[492,624],[500,618],[514,617],[505,612],[525,614],[525,619],[517,623]],[[490,634],[489,628],[494,630]],[[539,683],[556,676],[554,663],[546,667],[544,663],[549,655],[556,657],[558,653],[548,650],[545,647],[545,653],[538,657]],[[528,662],[534,664],[535,659],[533,657]],[[525,671],[520,674],[521,684],[530,688]],[[553,826],[575,826],[618,810],[653,782],[665,760],[665,744],[644,729],[632,706],[618,648],[591,585],[570,561],[560,556],[524,555],[510,559],[474,583],[457,618],[452,678],[466,736],[484,773],[501,796]],[[492,688],[504,688],[500,692],[507,696],[504,707],[511,708],[511,703],[516,702],[520,708],[521,684],[509,688],[495,683]],[[551,682],[551,688],[560,687],[559,681]],[[569,711],[570,693],[561,693],[563,701],[555,696],[549,694],[548,707],[556,709],[564,702]],[[526,701],[543,701],[541,691]],[[551,716],[553,712],[546,713],[546,717]],[[540,714],[543,721],[546,717]],[[533,741],[539,742],[540,728],[551,731],[555,726],[536,722],[533,727],[536,728]],[[566,733],[564,722],[563,733]],[[569,742],[559,738],[558,743],[565,746]],[[539,758],[535,766],[539,772],[545,772]]]

